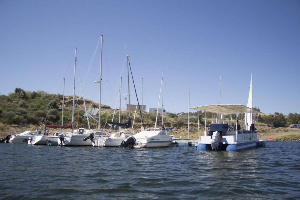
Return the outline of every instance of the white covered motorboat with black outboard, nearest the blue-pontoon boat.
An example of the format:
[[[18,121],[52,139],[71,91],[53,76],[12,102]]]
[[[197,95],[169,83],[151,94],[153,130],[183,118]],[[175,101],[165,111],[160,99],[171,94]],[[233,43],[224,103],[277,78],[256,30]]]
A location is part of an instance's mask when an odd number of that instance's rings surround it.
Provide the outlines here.
[[[131,148],[167,147],[171,145],[172,141],[172,136],[163,130],[148,130],[128,137],[122,146]]]

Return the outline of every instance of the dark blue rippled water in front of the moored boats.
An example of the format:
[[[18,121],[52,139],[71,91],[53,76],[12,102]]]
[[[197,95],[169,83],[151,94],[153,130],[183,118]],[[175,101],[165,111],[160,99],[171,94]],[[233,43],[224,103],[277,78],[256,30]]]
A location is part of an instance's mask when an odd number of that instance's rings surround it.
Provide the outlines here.
[[[300,199],[300,142],[237,152],[0,144],[0,199]]]

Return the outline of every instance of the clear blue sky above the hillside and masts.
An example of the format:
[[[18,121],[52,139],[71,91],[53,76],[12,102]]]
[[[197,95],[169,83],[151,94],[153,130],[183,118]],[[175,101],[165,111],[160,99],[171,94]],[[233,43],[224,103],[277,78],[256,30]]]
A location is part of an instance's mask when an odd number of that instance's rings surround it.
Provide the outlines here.
[[[101,103],[115,107],[122,72],[122,106],[128,94],[126,54],[137,94],[157,107],[164,70],[168,112],[221,103],[264,113],[300,113],[300,1],[74,1],[0,0],[0,94],[15,88],[73,94],[74,48],[83,94],[99,101],[100,47],[104,35]],[[70,61],[70,64],[68,64]],[[131,93],[134,92],[131,83]],[[76,72],[76,91],[80,93]],[[128,103],[128,100],[127,100]],[[131,104],[136,103],[131,96]],[[119,104],[119,103],[118,103]],[[194,110],[191,110],[194,111]]]

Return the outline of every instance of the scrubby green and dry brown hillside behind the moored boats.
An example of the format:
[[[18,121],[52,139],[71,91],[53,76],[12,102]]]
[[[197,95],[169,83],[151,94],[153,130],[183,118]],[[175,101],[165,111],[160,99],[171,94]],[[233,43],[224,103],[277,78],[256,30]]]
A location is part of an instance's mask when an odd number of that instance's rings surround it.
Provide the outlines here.
[[[83,99],[75,99],[77,105],[84,108]],[[72,118],[72,104],[73,96],[64,97],[64,125],[70,124]],[[85,100],[86,108],[96,107],[99,104],[91,100]],[[83,117],[84,111],[75,107],[74,116],[74,127],[87,127],[87,119]],[[114,109],[110,106],[101,104],[101,127],[105,124],[105,121],[112,121]],[[297,113],[294,115],[296,116]],[[11,133],[10,125],[26,125],[27,130],[34,131],[37,127],[41,127],[43,124],[55,124],[60,125],[62,120],[62,95],[48,94],[44,91],[23,91],[20,88],[16,88],[14,93],[6,95],[0,95],[0,138],[4,137],[6,134]],[[282,115],[282,114],[281,114]],[[283,120],[282,116],[278,115],[259,115],[260,120],[263,121],[264,118],[272,123],[274,120]],[[298,116],[298,114],[297,114]],[[203,118],[201,112],[199,112],[199,132],[200,136],[203,135],[205,130],[205,119]],[[241,116],[238,116],[238,119]],[[211,123],[211,116],[207,117],[207,124]],[[121,123],[127,121],[128,112],[121,111]],[[97,119],[96,119],[97,120]],[[97,127],[97,121],[94,119],[89,120],[91,128],[95,129]],[[134,118],[134,113],[131,113],[131,124],[134,123],[134,131],[137,133],[141,129],[141,116],[136,114]],[[144,113],[143,122],[146,128],[154,127],[156,120],[156,113]],[[284,119],[285,120],[285,119]],[[295,119],[295,121],[297,121]],[[119,110],[116,110],[113,121],[119,121]],[[229,124],[234,121],[230,121]],[[274,123],[274,122],[273,122]],[[183,115],[177,115],[175,113],[169,113],[164,115],[164,125],[165,127],[174,127],[173,135],[175,137],[188,137],[188,116],[187,113]],[[157,127],[162,126],[162,116],[158,114]],[[257,127],[257,125],[256,125]],[[105,130],[109,130],[109,126],[106,125]],[[56,131],[56,130],[50,130]],[[259,133],[261,139],[267,139],[268,137],[300,133],[300,129],[297,128],[272,128],[268,127],[265,123],[259,123]],[[198,139],[198,117],[197,113],[190,113],[190,139]],[[295,138],[299,140],[299,138]]]

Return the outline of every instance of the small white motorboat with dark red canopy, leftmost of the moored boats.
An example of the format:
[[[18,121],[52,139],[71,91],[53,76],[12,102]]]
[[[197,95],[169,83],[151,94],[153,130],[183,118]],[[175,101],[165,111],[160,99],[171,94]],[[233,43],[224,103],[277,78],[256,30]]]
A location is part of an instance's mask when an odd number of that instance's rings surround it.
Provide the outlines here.
[[[8,141],[9,143],[27,142],[30,136],[35,135],[34,133],[32,133],[32,131],[26,131],[26,126],[12,125],[10,127],[12,128],[12,134],[11,134],[11,138]]]

